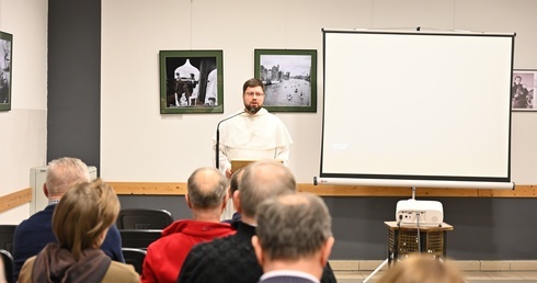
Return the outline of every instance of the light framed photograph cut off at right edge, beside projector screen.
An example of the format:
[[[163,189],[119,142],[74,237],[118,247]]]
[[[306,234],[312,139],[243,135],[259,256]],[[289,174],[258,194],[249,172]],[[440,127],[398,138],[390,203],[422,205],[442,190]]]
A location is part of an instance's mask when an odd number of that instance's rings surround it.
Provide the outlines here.
[[[535,92],[537,89],[537,70],[513,70],[511,87],[512,111],[537,111]]]

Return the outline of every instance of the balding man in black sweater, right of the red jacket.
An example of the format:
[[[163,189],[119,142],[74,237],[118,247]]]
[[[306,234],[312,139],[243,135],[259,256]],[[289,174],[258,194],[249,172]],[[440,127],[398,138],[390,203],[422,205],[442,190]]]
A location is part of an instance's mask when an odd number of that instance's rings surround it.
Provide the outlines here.
[[[192,248],[183,263],[178,282],[181,283],[256,283],[263,274],[251,238],[255,235],[259,204],[276,195],[296,192],[295,177],[276,161],[259,161],[244,168],[239,190],[233,193],[242,220],[237,234],[215,239]],[[335,282],[327,265],[322,282]]]

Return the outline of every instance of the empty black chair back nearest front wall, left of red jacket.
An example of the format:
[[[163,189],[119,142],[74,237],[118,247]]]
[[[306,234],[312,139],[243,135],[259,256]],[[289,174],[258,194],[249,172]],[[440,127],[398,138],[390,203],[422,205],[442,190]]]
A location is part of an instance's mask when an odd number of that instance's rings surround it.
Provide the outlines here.
[[[132,208],[121,210],[117,229],[163,229],[173,223],[173,216],[165,210]]]

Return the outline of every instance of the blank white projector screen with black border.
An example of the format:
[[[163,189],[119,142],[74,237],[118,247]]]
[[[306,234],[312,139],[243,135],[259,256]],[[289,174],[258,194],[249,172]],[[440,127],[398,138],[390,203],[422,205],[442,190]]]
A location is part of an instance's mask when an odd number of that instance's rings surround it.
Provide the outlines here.
[[[511,182],[514,34],[323,30],[323,47],[321,179]]]

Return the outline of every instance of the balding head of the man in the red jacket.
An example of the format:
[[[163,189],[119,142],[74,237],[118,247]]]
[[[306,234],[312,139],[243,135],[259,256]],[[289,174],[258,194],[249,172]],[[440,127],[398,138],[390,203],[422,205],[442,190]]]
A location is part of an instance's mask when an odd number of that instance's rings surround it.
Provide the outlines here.
[[[186,186],[190,202],[194,208],[216,208],[224,202],[228,180],[217,169],[204,167],[192,172]]]

